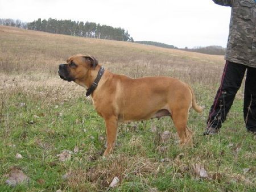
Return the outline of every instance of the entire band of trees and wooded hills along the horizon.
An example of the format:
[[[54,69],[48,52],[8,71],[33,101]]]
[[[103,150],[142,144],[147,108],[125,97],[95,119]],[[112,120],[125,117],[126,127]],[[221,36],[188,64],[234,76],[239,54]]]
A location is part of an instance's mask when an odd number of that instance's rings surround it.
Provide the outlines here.
[[[168,49],[179,49],[174,45],[168,45],[165,43],[159,43],[156,41],[134,41],[133,37],[130,36],[128,31],[123,28],[114,28],[111,26],[100,25],[92,22],[76,22],[73,20],[57,20],[49,18],[34,20],[31,23],[24,23],[21,20],[14,19],[1,19],[0,26],[11,26],[23,28],[26,30],[44,31],[52,34],[64,34],[80,37],[89,37],[95,39],[108,39],[117,41],[129,41],[131,43],[139,43],[145,45],[153,45],[156,47],[168,48]],[[208,46],[208,47],[196,47],[188,49],[180,49],[189,52],[205,53],[209,55],[225,55],[226,49],[221,46]]]

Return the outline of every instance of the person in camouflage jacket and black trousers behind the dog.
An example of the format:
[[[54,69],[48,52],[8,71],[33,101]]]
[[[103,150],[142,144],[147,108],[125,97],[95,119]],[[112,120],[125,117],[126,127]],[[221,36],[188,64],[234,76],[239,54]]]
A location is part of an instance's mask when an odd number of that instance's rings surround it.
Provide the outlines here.
[[[218,133],[246,72],[243,118],[247,131],[256,133],[256,0],[213,0],[232,7],[226,64],[210,107],[204,135]]]

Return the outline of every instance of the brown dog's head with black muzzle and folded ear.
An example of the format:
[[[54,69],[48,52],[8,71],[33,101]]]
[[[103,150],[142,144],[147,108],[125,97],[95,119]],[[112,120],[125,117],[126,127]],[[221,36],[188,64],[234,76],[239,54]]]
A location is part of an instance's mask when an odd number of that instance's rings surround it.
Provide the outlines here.
[[[98,61],[89,55],[73,55],[68,58],[67,64],[59,65],[59,76],[65,81],[75,81],[77,84],[84,81],[88,70],[95,69]]]

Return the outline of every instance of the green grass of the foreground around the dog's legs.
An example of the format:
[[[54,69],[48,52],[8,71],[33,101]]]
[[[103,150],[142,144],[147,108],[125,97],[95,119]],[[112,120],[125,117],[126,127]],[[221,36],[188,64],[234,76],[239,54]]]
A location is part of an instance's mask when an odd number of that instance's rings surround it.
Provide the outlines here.
[[[0,191],[255,191],[255,137],[245,130],[241,99],[234,102],[220,134],[212,137],[202,136],[208,111],[200,115],[191,110],[194,148],[180,149],[174,124],[162,118],[119,124],[114,154],[102,158],[104,120],[84,95],[65,101],[47,101],[51,95],[40,98],[24,90],[7,95],[0,130]],[[211,102],[202,95],[200,101]],[[167,130],[171,139],[162,143],[160,134]],[[79,152],[74,153],[76,146]],[[57,155],[64,150],[73,153],[61,162]],[[16,158],[17,153],[23,158]],[[195,164],[209,178],[198,178]],[[13,168],[29,181],[6,185]],[[115,176],[120,182],[109,188]]]

